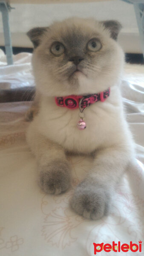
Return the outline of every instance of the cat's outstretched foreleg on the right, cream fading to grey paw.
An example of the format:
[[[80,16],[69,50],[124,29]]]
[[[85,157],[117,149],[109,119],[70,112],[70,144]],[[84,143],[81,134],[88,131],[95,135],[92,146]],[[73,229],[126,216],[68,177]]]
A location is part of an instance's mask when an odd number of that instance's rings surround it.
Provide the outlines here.
[[[75,189],[71,207],[85,218],[107,215],[112,194],[132,158],[129,148],[115,146],[97,152],[92,171]]]

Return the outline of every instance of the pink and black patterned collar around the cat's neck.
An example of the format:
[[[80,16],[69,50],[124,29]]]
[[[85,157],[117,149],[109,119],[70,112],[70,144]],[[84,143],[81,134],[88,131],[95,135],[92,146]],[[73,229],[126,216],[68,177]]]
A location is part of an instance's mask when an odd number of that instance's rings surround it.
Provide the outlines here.
[[[66,97],[55,97],[55,102],[60,107],[66,107],[70,109],[79,108],[79,101],[81,98],[81,108],[86,108],[87,106],[95,103],[97,101],[104,102],[110,95],[110,87],[101,93],[89,94],[86,96],[76,96],[70,95]]]

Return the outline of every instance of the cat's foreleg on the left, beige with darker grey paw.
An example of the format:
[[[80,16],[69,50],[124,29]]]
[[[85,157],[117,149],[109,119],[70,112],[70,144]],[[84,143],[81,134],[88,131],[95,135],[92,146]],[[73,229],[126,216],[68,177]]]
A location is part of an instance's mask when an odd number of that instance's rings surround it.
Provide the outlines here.
[[[34,122],[30,124],[26,137],[37,159],[40,187],[50,194],[66,191],[71,183],[71,167],[63,148],[40,134]]]

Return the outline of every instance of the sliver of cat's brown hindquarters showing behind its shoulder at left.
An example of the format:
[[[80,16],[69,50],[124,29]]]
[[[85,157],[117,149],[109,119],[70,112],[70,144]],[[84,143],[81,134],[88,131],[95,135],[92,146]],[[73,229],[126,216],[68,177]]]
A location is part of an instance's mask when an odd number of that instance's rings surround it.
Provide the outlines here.
[[[39,110],[39,102],[40,102],[40,93],[37,92],[36,90],[34,100],[30,108],[26,112],[26,121],[32,121],[34,117],[37,115]]]

